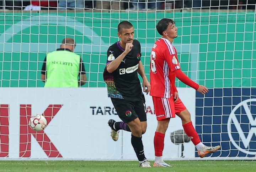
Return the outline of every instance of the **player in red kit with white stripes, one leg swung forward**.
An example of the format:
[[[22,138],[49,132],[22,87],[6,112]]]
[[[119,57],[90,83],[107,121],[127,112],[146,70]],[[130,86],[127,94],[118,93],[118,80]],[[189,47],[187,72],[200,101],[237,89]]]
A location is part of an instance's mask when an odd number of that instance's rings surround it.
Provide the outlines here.
[[[154,137],[154,166],[171,167],[162,159],[162,151],[164,150],[165,132],[170,119],[175,117],[175,114],[181,118],[184,131],[196,146],[199,157],[215,152],[220,146],[208,147],[201,142],[192,125],[190,113],[178,97],[175,77],[202,94],[206,94],[208,89],[203,85],[198,85],[181,71],[177,51],[172,45],[178,30],[175,22],[172,19],[163,18],[156,25],[156,29],[162,38],[155,42],[150,55],[150,95],[153,98],[158,120]]]

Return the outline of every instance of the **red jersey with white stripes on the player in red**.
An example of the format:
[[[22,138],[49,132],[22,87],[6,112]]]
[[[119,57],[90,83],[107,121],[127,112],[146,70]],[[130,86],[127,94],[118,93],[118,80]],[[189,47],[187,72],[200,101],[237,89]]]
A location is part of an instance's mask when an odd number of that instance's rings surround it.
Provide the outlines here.
[[[175,73],[180,69],[177,51],[165,38],[158,39],[150,55],[150,95],[162,98],[174,96]]]

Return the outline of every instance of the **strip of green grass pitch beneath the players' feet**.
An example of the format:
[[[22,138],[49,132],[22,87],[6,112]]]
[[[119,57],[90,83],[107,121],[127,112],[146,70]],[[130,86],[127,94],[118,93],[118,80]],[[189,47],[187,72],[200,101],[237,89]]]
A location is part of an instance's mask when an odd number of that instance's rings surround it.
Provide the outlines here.
[[[153,166],[153,161],[150,161]],[[255,161],[166,161],[173,167],[139,168],[138,161],[0,161],[0,172],[252,172]]]

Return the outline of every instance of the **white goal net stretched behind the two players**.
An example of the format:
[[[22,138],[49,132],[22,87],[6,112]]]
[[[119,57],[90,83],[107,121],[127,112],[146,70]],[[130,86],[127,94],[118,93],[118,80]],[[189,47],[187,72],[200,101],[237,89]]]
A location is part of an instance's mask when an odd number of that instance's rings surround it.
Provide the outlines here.
[[[82,5],[60,9],[60,1],[0,1],[0,159],[136,160],[129,132],[119,132],[117,142],[110,136],[107,121],[119,117],[103,81],[106,53],[119,40],[118,23],[131,22],[149,79],[151,48],[160,38],[155,26],[171,18],[178,28],[173,45],[182,71],[209,89],[202,96],[176,80],[201,141],[221,146],[206,159],[255,160],[255,0]],[[64,38],[75,40],[74,52],[82,58],[87,83],[81,88],[44,88],[44,58]],[[157,122],[152,99],[145,97],[148,128],[143,144],[146,157],[153,160]],[[46,116],[44,131],[28,126],[36,114]],[[170,120],[166,131],[164,159],[200,160],[192,142],[180,143],[173,135],[183,137],[178,117]]]

